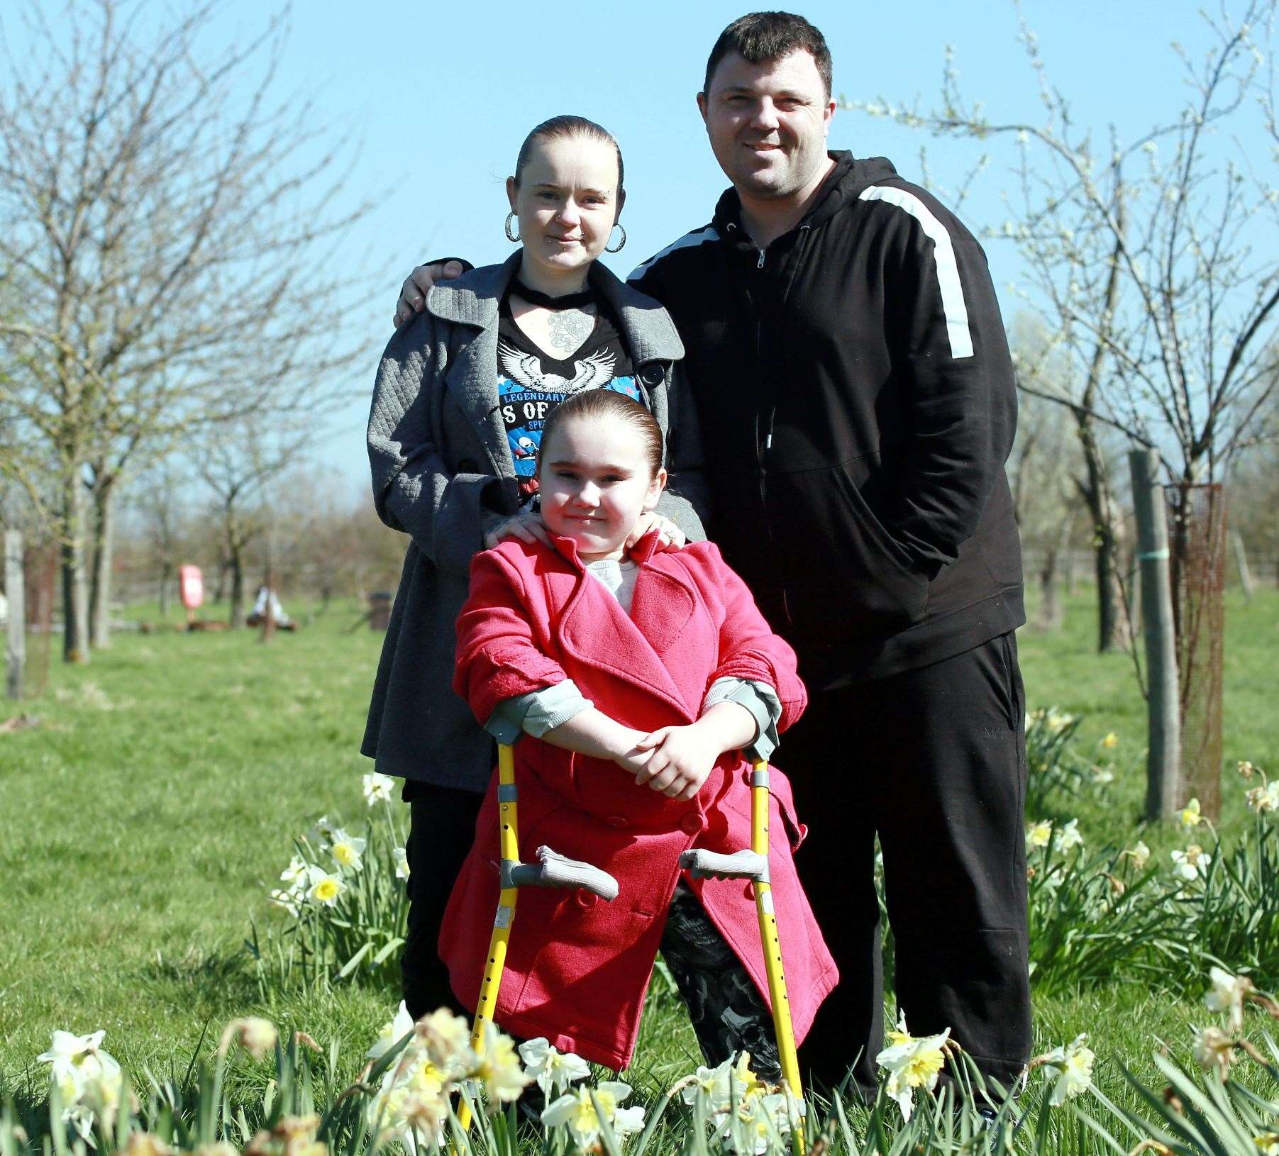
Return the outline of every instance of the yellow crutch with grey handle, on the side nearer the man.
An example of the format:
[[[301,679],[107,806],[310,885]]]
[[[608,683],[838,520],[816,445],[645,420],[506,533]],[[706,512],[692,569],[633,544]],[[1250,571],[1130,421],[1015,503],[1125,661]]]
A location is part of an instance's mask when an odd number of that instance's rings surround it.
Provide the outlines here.
[[[778,939],[778,917],[773,910],[773,885],[769,881],[769,765],[757,760],[751,771],[751,849],[732,854],[693,848],[679,857],[679,866],[694,877],[748,879],[755,890],[755,912],[760,919],[764,942],[764,969],[769,977],[769,1003],[773,1004],[773,1031],[778,1040],[781,1081],[790,1095],[802,1104],[799,1060],[796,1055],[796,1033],[790,1024],[790,1001],[787,977],[781,967],[781,941]],[[794,1128],[797,1148],[803,1148],[803,1132]]]

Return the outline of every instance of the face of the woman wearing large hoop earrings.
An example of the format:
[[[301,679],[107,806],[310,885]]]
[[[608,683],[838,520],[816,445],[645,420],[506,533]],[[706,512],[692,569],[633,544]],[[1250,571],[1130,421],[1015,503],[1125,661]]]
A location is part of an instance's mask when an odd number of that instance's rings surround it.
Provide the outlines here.
[[[519,184],[506,179],[506,197],[519,217],[526,266],[572,279],[604,252],[622,212],[616,151],[583,136],[535,141]]]

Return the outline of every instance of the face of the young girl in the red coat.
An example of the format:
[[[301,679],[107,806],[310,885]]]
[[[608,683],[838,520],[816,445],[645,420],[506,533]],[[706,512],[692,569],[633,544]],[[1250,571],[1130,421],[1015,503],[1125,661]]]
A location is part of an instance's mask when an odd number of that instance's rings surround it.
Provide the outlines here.
[[[666,471],[648,465],[643,440],[622,418],[569,418],[542,441],[542,519],[577,542],[582,561],[620,559],[640,515],[657,505]]]

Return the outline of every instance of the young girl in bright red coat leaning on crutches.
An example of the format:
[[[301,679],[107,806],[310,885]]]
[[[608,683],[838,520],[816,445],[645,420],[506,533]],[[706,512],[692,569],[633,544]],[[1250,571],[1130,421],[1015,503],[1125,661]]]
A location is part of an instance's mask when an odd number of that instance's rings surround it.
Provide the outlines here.
[[[663,486],[661,431],[620,394],[564,402],[538,460],[554,549],[508,540],[476,555],[458,618],[454,689],[515,743],[521,858],[538,845],[613,875],[618,898],[526,887],[496,1022],[624,1068],[660,949],[706,1059],[749,1051],[780,1077],[751,884],[693,880],[693,847],[749,847],[749,763],[803,710],[790,648],[709,542],[627,554]],[[521,737],[521,735],[526,737]],[[518,742],[517,742],[518,739]],[[773,771],[769,870],[792,1018],[802,1040],[836,972],[796,876],[803,838]],[[498,904],[498,801],[490,786],[453,890],[440,957],[475,1008]]]

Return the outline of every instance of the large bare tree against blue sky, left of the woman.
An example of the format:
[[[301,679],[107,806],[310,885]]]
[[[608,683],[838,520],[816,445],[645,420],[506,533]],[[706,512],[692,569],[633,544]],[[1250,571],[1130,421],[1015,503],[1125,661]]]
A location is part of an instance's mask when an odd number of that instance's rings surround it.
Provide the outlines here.
[[[0,408],[55,463],[69,660],[95,555],[109,600],[122,478],[210,423],[313,412],[363,352],[339,336],[358,302],[331,260],[365,211],[334,208],[344,143],[272,102],[279,19],[210,55],[215,8],[72,0],[54,23],[31,3],[32,47],[4,46],[0,270],[24,292],[0,312]]]

